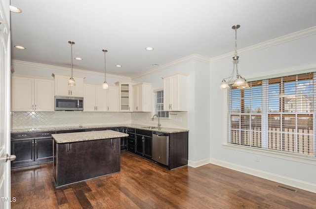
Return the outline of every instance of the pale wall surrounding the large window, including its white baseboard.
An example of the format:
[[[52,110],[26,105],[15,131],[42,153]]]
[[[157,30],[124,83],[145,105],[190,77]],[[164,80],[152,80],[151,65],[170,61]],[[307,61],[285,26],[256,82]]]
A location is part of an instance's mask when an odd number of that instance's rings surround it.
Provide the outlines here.
[[[316,71],[316,35],[293,39],[267,48],[239,54],[239,73],[247,80],[280,73]],[[246,50],[244,50],[246,51]],[[233,55],[233,53],[232,53]],[[250,149],[232,149],[227,141],[227,91],[218,86],[233,69],[232,56],[211,63],[210,158],[211,162],[288,185],[316,192],[316,159],[287,157]],[[259,162],[255,162],[255,156]]]

